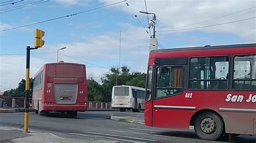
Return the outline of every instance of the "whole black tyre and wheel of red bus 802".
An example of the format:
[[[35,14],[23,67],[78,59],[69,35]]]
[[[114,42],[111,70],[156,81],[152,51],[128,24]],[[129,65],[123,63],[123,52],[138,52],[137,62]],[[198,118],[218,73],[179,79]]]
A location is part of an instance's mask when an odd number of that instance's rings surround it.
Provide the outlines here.
[[[217,140],[224,134],[224,123],[216,113],[205,112],[194,121],[194,130],[200,139]]]

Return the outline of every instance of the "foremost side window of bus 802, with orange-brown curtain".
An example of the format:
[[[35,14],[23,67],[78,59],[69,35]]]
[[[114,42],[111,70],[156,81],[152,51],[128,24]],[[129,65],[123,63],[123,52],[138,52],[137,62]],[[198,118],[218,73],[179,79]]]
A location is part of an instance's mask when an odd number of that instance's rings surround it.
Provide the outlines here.
[[[181,67],[158,67],[156,97],[165,97],[180,94],[182,91]]]

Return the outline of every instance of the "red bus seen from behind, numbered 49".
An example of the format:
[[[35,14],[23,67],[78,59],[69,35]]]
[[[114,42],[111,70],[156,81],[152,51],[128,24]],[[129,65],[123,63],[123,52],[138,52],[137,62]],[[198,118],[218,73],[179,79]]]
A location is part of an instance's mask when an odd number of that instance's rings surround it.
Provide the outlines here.
[[[43,115],[50,111],[66,112],[75,118],[77,111],[87,110],[85,65],[47,63],[35,74],[32,106]]]

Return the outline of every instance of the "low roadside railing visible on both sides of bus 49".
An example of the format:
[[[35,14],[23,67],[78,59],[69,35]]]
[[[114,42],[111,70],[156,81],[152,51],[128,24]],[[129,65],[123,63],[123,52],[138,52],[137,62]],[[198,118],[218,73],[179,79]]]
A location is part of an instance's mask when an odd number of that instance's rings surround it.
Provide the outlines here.
[[[25,98],[23,97],[9,97],[0,96],[0,108],[16,108],[24,107]],[[29,106],[32,107],[32,98],[29,98]],[[110,102],[87,102],[89,109],[112,109]]]

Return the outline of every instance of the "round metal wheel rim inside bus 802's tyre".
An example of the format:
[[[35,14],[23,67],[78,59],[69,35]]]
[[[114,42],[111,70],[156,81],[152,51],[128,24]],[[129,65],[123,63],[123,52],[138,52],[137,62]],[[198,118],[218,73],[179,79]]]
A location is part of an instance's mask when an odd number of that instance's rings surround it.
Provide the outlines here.
[[[216,126],[216,122],[212,118],[204,118],[200,124],[201,130],[207,134],[212,134],[216,130]]]

